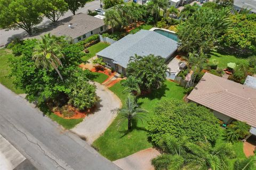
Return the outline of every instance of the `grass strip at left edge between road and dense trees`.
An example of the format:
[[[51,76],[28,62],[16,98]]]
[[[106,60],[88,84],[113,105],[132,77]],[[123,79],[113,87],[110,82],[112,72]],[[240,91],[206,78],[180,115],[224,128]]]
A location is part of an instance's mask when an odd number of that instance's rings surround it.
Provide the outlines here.
[[[13,84],[14,78],[7,77],[11,73],[11,68],[9,67],[9,60],[11,58],[15,58],[11,50],[6,48],[0,49],[0,83],[15,92],[15,94],[23,94],[23,90],[15,88]]]

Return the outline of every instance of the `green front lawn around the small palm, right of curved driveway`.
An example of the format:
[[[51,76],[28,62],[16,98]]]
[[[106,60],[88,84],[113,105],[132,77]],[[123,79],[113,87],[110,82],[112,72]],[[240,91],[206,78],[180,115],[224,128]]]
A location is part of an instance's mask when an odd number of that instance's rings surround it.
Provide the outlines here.
[[[115,92],[124,103],[126,94],[122,93],[123,87],[120,82],[116,83],[110,90]],[[127,120],[121,120],[117,116],[105,133],[93,142],[93,147],[109,160],[123,158],[142,149],[152,147],[151,142],[147,140],[145,127],[148,125],[147,121],[150,121],[150,117],[153,115],[153,107],[163,97],[181,100],[185,95],[184,92],[183,87],[171,81],[166,81],[161,89],[154,90],[150,95],[138,99],[138,104],[149,112],[146,121],[143,121],[143,123],[133,121],[132,130],[128,131]]]

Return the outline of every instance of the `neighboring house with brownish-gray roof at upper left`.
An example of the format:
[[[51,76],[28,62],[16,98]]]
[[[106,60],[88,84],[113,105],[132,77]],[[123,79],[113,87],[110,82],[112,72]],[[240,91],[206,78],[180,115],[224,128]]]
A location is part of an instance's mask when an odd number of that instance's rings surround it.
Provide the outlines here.
[[[105,32],[106,30],[107,26],[102,19],[79,13],[50,24],[50,27],[46,28],[40,35],[51,33],[51,35],[55,36],[67,36],[71,37],[74,43],[78,43],[81,40]]]

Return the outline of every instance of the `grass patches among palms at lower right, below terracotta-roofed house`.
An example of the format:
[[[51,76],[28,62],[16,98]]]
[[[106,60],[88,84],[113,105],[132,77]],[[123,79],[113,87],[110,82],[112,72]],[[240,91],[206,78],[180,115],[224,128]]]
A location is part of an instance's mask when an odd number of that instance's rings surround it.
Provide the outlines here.
[[[220,145],[223,142],[226,142],[224,134],[225,134],[225,130],[221,129],[221,137],[217,140],[216,146]],[[244,145],[243,145],[242,141],[234,142],[233,146],[234,146],[234,151],[235,151],[236,157],[233,158],[233,159],[229,159],[230,170],[233,170],[234,163],[235,163],[237,158],[246,158],[245,155],[244,155],[244,149],[243,149]]]

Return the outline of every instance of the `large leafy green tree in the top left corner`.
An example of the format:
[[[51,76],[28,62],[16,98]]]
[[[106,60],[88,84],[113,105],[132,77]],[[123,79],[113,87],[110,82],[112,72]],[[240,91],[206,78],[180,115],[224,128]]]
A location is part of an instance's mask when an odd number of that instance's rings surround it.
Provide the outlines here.
[[[21,28],[32,35],[35,25],[43,20],[41,11],[36,0],[0,0],[0,28]]]

